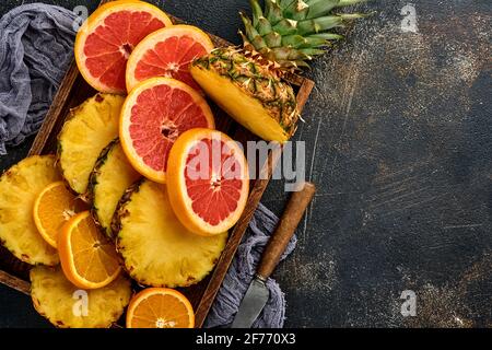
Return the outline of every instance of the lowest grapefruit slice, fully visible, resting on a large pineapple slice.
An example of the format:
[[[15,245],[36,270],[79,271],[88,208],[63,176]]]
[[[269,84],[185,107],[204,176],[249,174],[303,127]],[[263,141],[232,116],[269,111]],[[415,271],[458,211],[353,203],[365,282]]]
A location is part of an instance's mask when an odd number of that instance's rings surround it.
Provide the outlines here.
[[[167,192],[176,217],[189,231],[214,235],[230,230],[249,192],[243,150],[216,130],[183,133],[171,150]]]

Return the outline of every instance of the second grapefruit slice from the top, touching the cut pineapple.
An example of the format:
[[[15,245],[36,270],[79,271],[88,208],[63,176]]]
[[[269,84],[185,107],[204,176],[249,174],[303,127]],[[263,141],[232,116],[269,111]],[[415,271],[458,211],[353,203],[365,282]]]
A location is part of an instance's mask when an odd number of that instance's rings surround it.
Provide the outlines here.
[[[174,78],[197,91],[200,86],[189,72],[190,63],[213,50],[213,43],[191,25],[174,25],[145,37],[131,52],[127,65],[127,90],[154,77]]]

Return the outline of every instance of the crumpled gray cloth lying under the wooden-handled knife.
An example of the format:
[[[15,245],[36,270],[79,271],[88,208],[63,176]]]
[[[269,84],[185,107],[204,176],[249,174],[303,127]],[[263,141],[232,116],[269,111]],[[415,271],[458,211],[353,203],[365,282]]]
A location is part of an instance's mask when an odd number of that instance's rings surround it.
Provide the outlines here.
[[[279,218],[265,206],[258,207],[212,305],[206,327],[227,327],[233,323],[241,301],[256,273],[261,253],[278,222]],[[294,250],[296,242],[294,236],[282,259]],[[285,320],[284,294],[272,278],[267,280],[267,288],[270,291],[269,301],[253,328],[282,328]]]

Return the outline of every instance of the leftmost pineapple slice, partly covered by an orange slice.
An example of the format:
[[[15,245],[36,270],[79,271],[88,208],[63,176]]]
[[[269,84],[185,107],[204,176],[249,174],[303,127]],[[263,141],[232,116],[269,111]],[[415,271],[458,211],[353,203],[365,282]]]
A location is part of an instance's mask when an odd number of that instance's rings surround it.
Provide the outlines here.
[[[0,177],[0,242],[24,262],[54,266],[58,254],[34,224],[34,201],[49,184],[61,179],[55,156],[31,156]]]

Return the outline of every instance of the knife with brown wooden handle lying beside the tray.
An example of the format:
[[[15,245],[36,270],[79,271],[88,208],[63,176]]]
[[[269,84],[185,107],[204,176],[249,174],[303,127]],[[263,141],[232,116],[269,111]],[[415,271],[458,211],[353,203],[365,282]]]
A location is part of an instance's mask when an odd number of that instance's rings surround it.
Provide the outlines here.
[[[289,242],[294,235],[295,229],[304,215],[304,211],[316,191],[316,187],[312,183],[303,183],[301,188],[289,200],[279,226],[271,236],[261,256],[255,279],[241,302],[232,328],[250,328],[268,302],[270,292],[266,285],[267,279],[279,264],[283,252],[285,252]]]

